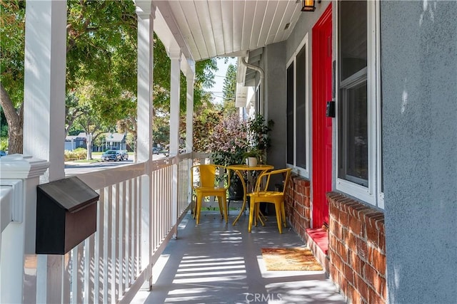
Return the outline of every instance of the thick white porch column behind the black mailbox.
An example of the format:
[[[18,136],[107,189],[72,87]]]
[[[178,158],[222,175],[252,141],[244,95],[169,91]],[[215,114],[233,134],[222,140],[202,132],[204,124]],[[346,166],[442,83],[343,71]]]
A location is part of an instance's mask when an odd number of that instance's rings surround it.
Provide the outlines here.
[[[66,1],[27,1],[24,154],[49,160],[49,169],[41,177],[42,183],[65,177],[65,69]],[[36,195],[36,189],[28,191],[34,193],[30,196]],[[64,256],[34,256],[34,249],[26,250],[26,253],[37,258],[36,273],[31,273],[27,284],[38,285],[36,299],[31,300],[40,303],[68,301],[68,286],[64,294],[61,292]]]

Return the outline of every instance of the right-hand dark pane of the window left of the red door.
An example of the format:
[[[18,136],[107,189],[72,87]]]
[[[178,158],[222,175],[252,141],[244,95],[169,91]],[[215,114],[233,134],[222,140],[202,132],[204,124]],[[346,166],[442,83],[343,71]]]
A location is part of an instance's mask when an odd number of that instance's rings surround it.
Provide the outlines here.
[[[297,55],[296,95],[296,166],[306,169],[306,53],[305,46]]]

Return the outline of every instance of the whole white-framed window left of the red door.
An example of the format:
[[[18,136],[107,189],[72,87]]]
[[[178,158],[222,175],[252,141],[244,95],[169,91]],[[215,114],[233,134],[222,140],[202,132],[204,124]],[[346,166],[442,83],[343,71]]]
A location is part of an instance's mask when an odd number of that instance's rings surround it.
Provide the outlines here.
[[[287,65],[287,164],[308,177],[308,35]]]

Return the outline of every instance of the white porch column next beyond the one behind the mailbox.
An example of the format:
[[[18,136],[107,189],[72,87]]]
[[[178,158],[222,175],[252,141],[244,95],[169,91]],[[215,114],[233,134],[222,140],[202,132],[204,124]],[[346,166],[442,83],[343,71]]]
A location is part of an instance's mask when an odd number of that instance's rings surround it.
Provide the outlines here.
[[[145,281],[152,285],[151,248],[151,164],[152,164],[152,81],[154,63],[154,18],[155,7],[137,6],[138,15],[138,103],[136,162],[146,162],[146,174],[141,177],[141,269],[146,269]]]

